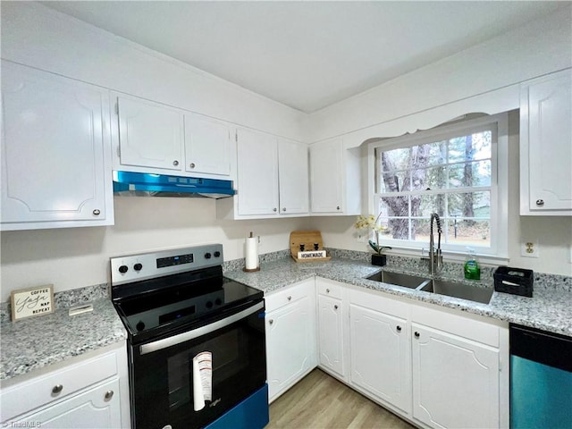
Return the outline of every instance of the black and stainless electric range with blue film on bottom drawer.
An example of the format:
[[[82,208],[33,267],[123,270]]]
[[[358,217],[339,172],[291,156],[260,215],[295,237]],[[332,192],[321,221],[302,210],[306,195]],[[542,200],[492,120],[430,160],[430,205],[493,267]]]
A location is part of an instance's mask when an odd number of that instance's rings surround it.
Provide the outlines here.
[[[223,277],[222,264],[220,244],[111,259],[133,428],[268,423],[263,292]]]

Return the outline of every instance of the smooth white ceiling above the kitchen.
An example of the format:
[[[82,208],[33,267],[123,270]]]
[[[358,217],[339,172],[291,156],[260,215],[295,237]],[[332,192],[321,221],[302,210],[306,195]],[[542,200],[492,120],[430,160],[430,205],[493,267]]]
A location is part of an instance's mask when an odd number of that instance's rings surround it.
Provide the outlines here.
[[[570,2],[41,3],[310,113]]]

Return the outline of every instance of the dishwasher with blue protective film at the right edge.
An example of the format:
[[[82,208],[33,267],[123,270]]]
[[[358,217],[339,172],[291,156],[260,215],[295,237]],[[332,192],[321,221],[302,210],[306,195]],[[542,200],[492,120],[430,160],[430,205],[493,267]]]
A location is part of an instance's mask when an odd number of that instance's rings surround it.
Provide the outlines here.
[[[510,325],[511,429],[572,429],[572,338]]]

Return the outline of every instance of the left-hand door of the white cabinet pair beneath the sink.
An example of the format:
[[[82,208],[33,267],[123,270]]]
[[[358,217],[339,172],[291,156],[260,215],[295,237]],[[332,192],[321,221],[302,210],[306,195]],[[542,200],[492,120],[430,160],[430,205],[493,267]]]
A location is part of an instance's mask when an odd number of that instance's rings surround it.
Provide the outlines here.
[[[408,413],[408,329],[404,319],[350,305],[352,383]]]

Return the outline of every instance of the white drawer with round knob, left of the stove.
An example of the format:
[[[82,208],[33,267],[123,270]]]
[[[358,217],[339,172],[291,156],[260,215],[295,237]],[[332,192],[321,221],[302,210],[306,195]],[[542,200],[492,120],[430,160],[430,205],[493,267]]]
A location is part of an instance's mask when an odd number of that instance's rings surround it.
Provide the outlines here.
[[[107,353],[14,384],[0,393],[2,421],[61,400],[115,374],[118,374],[117,357],[115,353]]]

